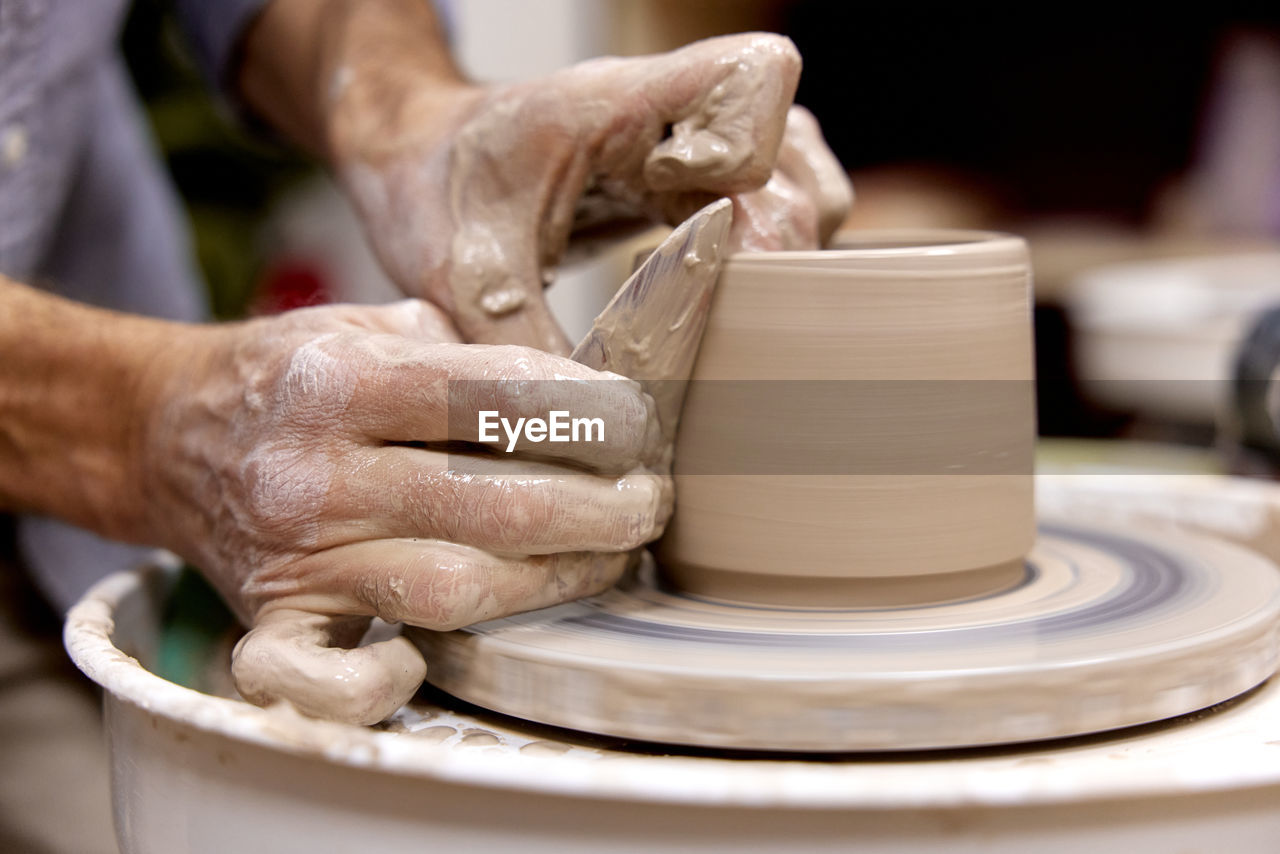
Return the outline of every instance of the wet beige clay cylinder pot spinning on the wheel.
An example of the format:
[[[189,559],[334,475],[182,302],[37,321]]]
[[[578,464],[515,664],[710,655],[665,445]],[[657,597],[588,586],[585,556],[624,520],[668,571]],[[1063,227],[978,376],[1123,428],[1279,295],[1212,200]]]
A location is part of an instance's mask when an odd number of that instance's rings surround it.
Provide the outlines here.
[[[1025,243],[846,233],[721,273],[676,440],[668,580],[820,607],[974,595],[1034,538]]]

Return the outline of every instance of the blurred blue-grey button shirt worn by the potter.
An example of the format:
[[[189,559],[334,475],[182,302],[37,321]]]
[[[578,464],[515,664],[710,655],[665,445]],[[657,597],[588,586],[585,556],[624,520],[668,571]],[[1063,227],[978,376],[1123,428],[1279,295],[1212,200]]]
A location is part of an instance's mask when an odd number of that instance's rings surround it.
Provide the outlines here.
[[[223,82],[266,0],[179,0]],[[115,46],[125,0],[0,0],[0,273],[93,305],[201,320],[182,206]],[[150,553],[46,519],[18,542],[52,602]]]

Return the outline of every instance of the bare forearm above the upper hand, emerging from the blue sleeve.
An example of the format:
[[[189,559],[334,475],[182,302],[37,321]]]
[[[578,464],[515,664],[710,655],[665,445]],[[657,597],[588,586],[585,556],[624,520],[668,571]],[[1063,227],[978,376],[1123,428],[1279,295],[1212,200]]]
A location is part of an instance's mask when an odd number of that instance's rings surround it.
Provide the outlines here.
[[[475,92],[426,0],[273,0],[236,81],[259,115],[329,160],[375,149],[404,111],[443,133]]]

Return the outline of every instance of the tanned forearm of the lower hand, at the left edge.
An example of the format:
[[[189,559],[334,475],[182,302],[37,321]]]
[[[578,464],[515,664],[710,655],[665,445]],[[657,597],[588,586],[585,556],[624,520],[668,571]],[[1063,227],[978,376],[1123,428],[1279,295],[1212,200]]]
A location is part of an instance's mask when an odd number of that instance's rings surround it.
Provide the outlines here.
[[[175,329],[0,277],[0,510],[146,539],[143,416]]]

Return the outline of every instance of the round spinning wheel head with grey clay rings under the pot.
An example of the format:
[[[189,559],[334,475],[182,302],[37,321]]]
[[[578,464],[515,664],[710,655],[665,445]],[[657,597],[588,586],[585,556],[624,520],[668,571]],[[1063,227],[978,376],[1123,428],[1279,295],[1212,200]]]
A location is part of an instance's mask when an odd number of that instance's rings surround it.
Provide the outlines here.
[[[554,726],[671,744],[888,750],[1183,714],[1276,670],[1280,571],[1207,536],[1042,525],[1020,577],[913,607],[788,608],[618,588],[453,632],[428,681]]]

